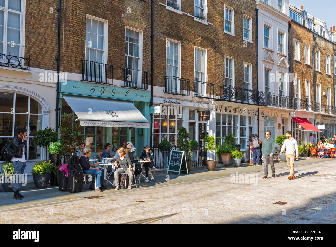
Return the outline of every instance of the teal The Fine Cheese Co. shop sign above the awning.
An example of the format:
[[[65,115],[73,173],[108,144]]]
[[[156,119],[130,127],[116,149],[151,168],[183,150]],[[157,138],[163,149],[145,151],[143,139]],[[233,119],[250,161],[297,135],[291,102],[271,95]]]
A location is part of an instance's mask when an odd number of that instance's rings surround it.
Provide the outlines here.
[[[67,84],[61,84],[60,92],[113,99],[151,101],[151,92],[149,91],[69,80]]]

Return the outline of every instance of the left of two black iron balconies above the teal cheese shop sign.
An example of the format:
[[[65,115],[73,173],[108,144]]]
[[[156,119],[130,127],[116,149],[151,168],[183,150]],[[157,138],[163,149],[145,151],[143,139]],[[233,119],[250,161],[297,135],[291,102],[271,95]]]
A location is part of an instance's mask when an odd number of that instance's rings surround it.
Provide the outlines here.
[[[113,66],[98,62],[82,60],[82,81],[112,85]]]

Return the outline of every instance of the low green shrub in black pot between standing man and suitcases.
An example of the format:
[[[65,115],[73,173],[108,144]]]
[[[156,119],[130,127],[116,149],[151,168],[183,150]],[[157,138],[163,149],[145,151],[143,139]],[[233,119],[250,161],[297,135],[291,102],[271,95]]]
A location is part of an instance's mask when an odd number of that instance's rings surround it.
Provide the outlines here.
[[[37,162],[33,165],[32,174],[34,179],[34,184],[37,189],[44,189],[47,187],[50,173],[54,169],[54,166],[46,161]]]

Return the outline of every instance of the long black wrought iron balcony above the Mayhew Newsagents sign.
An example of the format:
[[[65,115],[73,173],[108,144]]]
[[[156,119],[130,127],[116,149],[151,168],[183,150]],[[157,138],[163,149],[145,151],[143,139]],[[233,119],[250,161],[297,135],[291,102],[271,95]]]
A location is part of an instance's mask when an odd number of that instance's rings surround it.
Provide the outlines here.
[[[265,105],[265,92],[231,85],[220,86],[220,100],[237,101],[252,105]]]

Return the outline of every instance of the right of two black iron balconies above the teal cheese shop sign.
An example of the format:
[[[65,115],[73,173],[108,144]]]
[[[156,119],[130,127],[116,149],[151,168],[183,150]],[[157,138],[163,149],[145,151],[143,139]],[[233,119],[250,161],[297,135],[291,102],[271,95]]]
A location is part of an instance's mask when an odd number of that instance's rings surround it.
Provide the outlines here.
[[[132,87],[139,89],[148,89],[148,72],[122,68],[123,70],[123,87]]]

